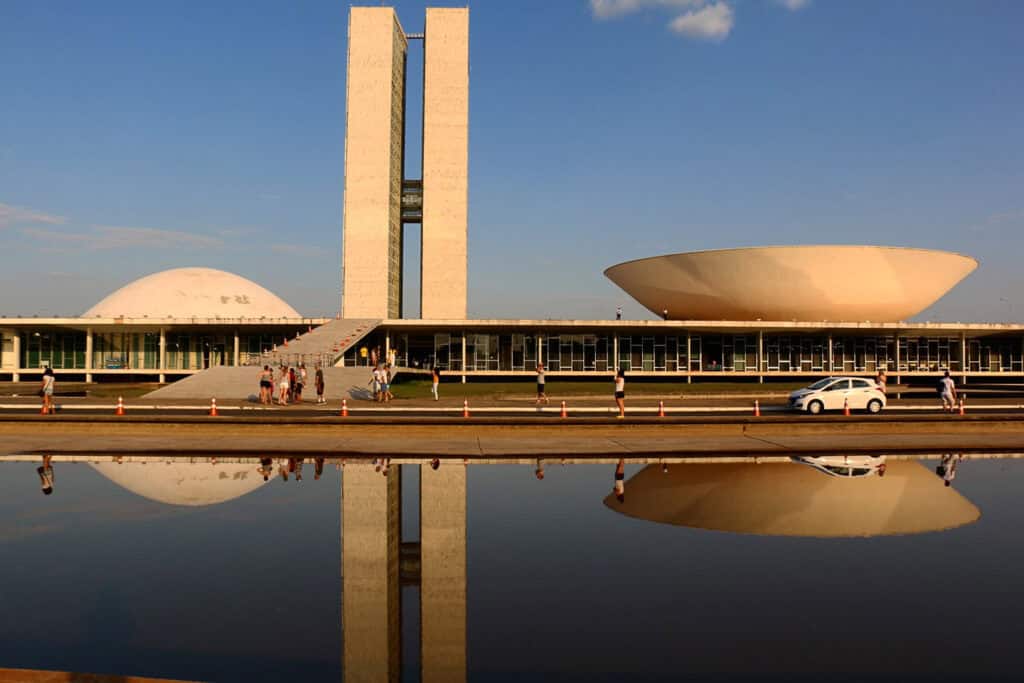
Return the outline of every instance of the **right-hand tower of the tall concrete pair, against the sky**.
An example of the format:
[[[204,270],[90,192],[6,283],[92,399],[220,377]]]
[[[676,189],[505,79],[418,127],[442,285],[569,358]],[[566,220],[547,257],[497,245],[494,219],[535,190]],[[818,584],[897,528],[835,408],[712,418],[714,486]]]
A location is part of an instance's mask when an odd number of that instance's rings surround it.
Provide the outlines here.
[[[469,9],[428,8],[423,59],[424,318],[466,317]]]

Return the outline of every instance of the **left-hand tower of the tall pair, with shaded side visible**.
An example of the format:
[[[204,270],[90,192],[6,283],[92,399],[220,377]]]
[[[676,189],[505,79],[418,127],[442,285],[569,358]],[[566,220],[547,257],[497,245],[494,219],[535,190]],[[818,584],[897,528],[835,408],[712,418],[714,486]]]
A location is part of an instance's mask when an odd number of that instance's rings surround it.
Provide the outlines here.
[[[399,315],[407,49],[393,8],[350,9],[343,317]]]

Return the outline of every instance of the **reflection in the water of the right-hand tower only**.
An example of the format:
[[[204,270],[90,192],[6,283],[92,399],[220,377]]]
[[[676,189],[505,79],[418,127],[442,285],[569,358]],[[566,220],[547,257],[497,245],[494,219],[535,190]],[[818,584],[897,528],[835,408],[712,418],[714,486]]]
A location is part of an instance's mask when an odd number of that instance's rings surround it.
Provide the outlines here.
[[[465,465],[420,468],[421,680],[466,680]]]

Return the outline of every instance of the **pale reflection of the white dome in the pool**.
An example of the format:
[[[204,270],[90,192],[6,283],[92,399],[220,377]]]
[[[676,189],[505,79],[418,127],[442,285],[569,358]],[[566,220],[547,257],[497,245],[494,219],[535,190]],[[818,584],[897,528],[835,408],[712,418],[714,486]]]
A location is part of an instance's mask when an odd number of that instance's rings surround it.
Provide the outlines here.
[[[254,464],[92,463],[92,467],[136,496],[168,505],[216,505],[266,483]]]

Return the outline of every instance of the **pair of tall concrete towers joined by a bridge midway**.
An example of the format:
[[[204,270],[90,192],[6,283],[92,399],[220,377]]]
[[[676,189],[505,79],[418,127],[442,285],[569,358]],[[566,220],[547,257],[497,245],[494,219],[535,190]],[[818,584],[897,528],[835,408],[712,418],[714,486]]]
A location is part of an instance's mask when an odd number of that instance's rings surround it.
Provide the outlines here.
[[[423,168],[408,178],[406,63],[423,41]],[[345,95],[343,317],[402,315],[403,225],[420,223],[420,315],[466,317],[469,9],[428,8],[407,34],[391,7],[352,7]]]

